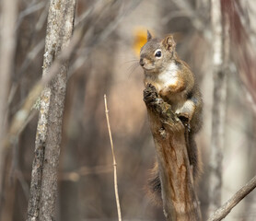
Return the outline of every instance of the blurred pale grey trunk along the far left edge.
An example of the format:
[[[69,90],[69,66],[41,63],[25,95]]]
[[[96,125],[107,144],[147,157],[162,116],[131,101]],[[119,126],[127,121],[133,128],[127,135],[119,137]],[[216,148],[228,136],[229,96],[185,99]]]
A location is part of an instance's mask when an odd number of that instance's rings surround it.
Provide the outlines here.
[[[1,1],[1,35],[0,35],[0,205],[4,198],[4,167],[6,150],[3,140],[6,137],[6,119],[10,77],[14,68],[16,50],[17,1]],[[3,206],[0,206],[3,208]]]

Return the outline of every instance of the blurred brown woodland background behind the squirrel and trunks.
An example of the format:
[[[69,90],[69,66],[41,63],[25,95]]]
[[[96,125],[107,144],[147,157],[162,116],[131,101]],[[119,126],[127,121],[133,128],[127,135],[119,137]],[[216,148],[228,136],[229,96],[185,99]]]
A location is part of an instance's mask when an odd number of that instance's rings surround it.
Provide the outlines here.
[[[196,140],[204,174],[198,194],[205,220],[207,163],[211,146],[213,53],[210,2],[207,0],[77,0],[76,22],[89,10],[87,33],[70,61],[59,166],[58,219],[117,220],[111,145],[104,111],[107,95],[115,148],[119,196],[124,220],[164,220],[161,207],[146,195],[155,150],[143,101],[139,50],[146,29],[163,38],[175,33],[180,58],[192,67],[204,97],[204,127]],[[222,201],[255,175],[256,2],[228,0],[230,62],[227,71]],[[17,39],[8,121],[41,78],[48,1],[17,2]],[[105,7],[96,5],[106,4]],[[96,8],[96,9],[95,9]],[[97,8],[101,8],[97,10]],[[3,8],[1,8],[3,10]],[[1,15],[0,15],[1,16]],[[230,19],[231,19],[230,18]],[[2,32],[2,29],[1,29]],[[25,220],[29,200],[38,113],[6,154],[4,206],[8,220]],[[2,200],[3,200],[2,199]],[[251,192],[225,220],[255,220]],[[4,221],[4,220],[3,220]],[[6,221],[6,220],[5,220]]]

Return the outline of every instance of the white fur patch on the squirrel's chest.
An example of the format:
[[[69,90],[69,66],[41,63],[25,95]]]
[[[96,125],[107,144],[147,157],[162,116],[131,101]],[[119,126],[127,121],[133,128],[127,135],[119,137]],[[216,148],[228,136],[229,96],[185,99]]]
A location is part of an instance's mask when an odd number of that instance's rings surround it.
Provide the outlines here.
[[[161,73],[157,79],[163,87],[176,86],[178,80],[178,66],[174,62],[169,64],[166,71]]]

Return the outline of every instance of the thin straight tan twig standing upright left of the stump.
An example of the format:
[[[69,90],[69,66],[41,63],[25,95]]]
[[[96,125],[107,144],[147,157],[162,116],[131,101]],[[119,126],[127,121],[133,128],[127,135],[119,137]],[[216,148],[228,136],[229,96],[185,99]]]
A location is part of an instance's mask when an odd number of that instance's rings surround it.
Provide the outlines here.
[[[122,221],[121,207],[120,207],[120,203],[119,203],[118,186],[117,186],[116,160],[115,160],[114,145],[113,145],[112,135],[111,135],[111,124],[110,124],[110,119],[109,119],[109,110],[108,110],[107,96],[106,95],[104,95],[104,101],[105,101],[106,119],[107,119],[109,134],[110,134],[110,140],[111,140],[111,151],[112,151],[112,157],[113,157],[114,187],[115,187],[115,199],[116,199],[118,220]]]

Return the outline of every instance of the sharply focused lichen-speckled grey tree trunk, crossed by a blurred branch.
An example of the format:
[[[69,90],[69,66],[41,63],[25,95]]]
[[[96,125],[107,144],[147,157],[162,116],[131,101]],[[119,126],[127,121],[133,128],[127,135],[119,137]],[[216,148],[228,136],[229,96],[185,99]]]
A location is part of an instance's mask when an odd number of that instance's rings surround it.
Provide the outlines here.
[[[55,57],[73,33],[76,0],[51,0],[42,75],[47,77]],[[68,61],[41,95],[35,158],[32,166],[27,220],[55,220],[57,169],[60,155]]]

